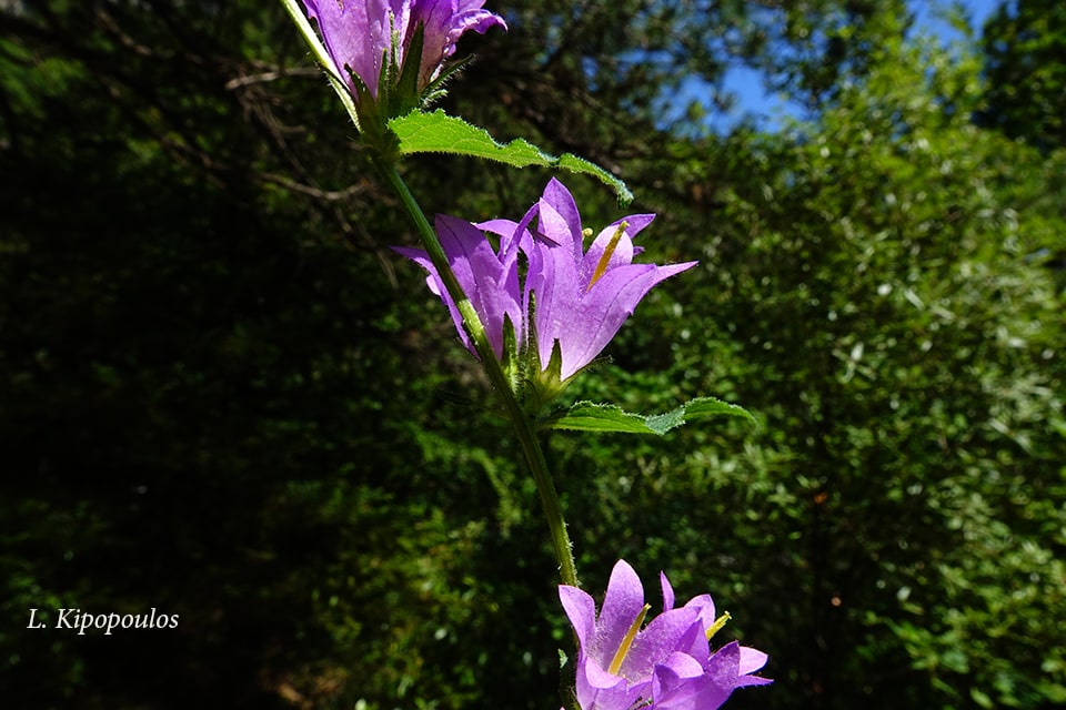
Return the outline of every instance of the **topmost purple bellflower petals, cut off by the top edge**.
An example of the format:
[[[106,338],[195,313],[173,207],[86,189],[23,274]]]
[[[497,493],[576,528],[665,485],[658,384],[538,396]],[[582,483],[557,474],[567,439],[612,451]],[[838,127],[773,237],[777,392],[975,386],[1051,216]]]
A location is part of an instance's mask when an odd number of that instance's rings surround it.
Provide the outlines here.
[[[499,14],[482,9],[484,0],[303,0],[308,14],[333,62],[333,72],[359,97],[355,74],[374,99],[379,94],[382,63],[399,69],[419,26],[424,29],[419,62],[418,90],[424,90],[440,73],[441,64],[455,52],[467,30],[481,34],[493,27],[507,29]],[[393,36],[399,44],[393,47]]]

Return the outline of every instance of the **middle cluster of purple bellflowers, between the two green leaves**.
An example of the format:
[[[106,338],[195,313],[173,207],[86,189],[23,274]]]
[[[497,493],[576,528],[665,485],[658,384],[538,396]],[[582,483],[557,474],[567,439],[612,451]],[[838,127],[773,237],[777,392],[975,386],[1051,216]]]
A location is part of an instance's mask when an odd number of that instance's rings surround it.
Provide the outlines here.
[[[633,237],[654,217],[634,214],[617,220],[585,248],[591,231],[582,229],[573,196],[553,178],[517,222],[471,224],[439,215],[435,226],[495,356],[504,363],[532,362],[524,376],[551,396],[596,358],[652,287],[696,264],[633,263],[641,252]],[[486,233],[494,235],[497,246]],[[414,248],[396,251],[429,272],[430,288],[445,303],[460,337],[474,352],[459,307],[429,255]]]

